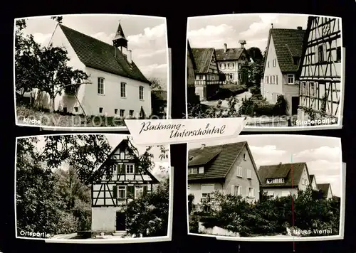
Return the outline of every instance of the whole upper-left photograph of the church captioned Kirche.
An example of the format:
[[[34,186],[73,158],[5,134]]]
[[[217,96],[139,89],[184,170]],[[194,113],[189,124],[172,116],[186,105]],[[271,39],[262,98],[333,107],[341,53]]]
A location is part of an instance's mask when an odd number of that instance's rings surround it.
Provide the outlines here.
[[[126,129],[167,119],[166,18],[80,14],[16,18],[16,124]]]

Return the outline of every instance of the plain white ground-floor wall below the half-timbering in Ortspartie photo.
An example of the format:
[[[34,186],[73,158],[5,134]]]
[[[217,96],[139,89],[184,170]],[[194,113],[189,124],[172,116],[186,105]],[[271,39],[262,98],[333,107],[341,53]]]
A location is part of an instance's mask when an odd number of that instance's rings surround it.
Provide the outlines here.
[[[116,230],[116,212],[120,207],[92,208],[91,229],[100,232],[114,232]]]

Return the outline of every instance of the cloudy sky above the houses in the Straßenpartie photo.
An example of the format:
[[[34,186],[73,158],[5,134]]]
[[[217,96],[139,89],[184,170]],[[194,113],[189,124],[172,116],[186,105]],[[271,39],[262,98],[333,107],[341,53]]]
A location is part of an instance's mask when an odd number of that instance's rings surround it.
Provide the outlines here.
[[[273,28],[306,28],[308,16],[295,14],[229,14],[189,18],[187,38],[192,48],[257,47],[261,52],[267,47],[268,33]]]

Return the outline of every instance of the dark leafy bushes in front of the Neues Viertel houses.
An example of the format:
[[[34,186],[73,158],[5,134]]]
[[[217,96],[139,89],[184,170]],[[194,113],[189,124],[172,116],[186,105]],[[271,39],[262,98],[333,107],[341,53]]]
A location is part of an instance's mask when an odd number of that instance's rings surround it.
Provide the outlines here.
[[[239,232],[243,237],[257,235],[283,235],[286,227],[292,223],[292,198],[269,198],[261,195],[257,203],[248,203],[241,195],[213,195],[214,205],[209,206],[209,213],[201,217],[204,227],[218,226],[231,232]],[[340,199],[327,200],[310,188],[299,191],[294,197],[294,225],[301,230],[332,230],[332,235],[339,234]],[[190,224],[190,223],[189,223]],[[309,236],[318,236],[311,234]],[[320,236],[320,235],[319,235]]]

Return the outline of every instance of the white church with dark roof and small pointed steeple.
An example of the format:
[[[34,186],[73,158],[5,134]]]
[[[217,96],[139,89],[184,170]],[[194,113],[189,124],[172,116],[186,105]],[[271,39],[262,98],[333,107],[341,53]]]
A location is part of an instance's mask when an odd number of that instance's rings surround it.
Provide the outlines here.
[[[150,116],[150,81],[132,60],[120,23],[112,45],[63,24],[57,26],[51,43],[66,48],[69,65],[89,75],[84,83],[68,82],[55,98],[55,111],[108,117]]]

